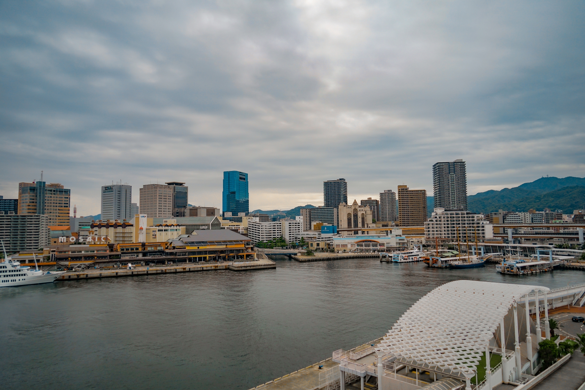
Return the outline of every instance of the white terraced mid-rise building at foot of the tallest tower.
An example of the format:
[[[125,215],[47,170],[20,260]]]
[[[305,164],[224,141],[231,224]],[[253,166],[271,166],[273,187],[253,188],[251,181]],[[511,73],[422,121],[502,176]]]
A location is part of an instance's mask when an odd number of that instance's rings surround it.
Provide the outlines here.
[[[461,242],[483,242],[494,237],[493,225],[483,214],[465,210],[435,208],[431,218],[425,222],[425,239]]]

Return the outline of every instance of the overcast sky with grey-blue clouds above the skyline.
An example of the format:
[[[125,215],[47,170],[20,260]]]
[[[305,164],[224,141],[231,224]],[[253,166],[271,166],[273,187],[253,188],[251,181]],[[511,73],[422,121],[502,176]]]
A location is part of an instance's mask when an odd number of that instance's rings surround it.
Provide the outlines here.
[[[0,195],[184,181],[221,208],[322,205],[467,161],[468,194],[585,177],[585,4],[428,1],[0,2]]]

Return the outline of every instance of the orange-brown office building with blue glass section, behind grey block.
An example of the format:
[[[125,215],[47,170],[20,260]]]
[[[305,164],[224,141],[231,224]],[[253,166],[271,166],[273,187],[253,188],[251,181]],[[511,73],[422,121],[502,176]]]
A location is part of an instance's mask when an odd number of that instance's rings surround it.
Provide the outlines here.
[[[46,215],[49,226],[69,226],[71,189],[44,181],[18,184],[19,215]]]

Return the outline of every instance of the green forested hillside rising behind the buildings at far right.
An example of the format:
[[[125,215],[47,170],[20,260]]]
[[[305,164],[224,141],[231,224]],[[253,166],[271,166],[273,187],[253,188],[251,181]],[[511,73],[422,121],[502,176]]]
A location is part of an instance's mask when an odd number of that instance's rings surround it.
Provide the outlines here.
[[[562,191],[568,188],[572,190]],[[526,212],[531,208],[536,210],[550,208],[571,213],[574,209],[583,207],[584,202],[583,198],[580,198],[579,188],[585,188],[585,178],[542,177],[518,187],[467,196],[467,209],[471,212],[491,213],[499,209]]]

